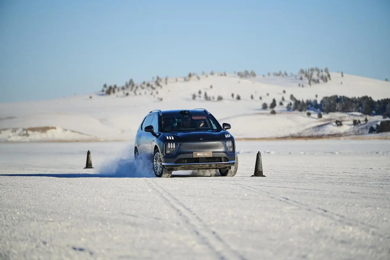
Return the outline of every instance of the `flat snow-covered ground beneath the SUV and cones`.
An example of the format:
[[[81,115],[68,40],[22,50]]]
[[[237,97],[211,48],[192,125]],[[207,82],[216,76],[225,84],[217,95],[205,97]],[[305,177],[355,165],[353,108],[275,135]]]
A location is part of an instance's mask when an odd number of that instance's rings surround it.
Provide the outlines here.
[[[0,258],[389,259],[389,140],[237,148],[235,177],[160,179],[132,141],[2,143]]]

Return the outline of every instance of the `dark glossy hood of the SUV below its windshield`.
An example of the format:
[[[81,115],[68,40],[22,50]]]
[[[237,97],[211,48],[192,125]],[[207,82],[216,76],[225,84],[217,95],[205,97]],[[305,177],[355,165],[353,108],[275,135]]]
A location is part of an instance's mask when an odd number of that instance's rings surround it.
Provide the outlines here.
[[[181,131],[181,132],[168,132],[165,135],[172,135],[177,138],[177,141],[222,141],[225,140],[225,134],[227,131],[220,130],[208,130],[208,131]]]

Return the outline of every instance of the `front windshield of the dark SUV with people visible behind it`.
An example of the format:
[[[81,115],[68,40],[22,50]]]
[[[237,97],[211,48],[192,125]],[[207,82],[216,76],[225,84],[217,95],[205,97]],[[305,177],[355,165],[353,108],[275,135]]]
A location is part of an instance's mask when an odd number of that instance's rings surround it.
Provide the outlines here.
[[[165,115],[161,118],[161,123],[163,132],[222,130],[218,122],[210,115]]]

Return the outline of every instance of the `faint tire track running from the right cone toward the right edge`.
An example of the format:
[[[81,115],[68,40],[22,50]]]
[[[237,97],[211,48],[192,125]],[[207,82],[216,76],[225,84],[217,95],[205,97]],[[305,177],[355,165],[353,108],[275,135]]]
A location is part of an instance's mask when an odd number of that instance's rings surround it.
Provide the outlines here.
[[[243,185],[243,184],[235,184],[235,185],[241,186],[241,187],[243,187],[247,190],[253,191],[253,192],[254,191],[261,191],[262,193],[266,193],[269,198],[273,198],[273,199],[279,200],[281,202],[288,203],[290,205],[295,205],[295,206],[298,205],[298,207],[300,207],[301,209],[311,211],[311,212],[316,212],[322,216],[325,216],[328,219],[332,219],[332,220],[337,221],[337,222],[342,223],[342,224],[358,227],[361,230],[369,233],[370,235],[377,235],[383,239],[390,238],[389,235],[385,235],[383,233],[380,233],[379,228],[377,226],[368,225],[368,224],[365,224],[365,223],[362,223],[359,221],[355,221],[355,220],[346,218],[346,216],[343,216],[343,215],[338,214],[338,213],[334,213],[334,212],[327,210],[327,209],[322,209],[320,207],[312,207],[312,206],[307,205],[305,203],[298,202],[297,200],[291,200],[285,196],[280,196],[280,197],[273,196],[272,193],[270,193],[268,191],[263,191],[261,189],[257,189],[257,188],[252,187],[252,186]],[[375,229],[375,231],[373,229]]]

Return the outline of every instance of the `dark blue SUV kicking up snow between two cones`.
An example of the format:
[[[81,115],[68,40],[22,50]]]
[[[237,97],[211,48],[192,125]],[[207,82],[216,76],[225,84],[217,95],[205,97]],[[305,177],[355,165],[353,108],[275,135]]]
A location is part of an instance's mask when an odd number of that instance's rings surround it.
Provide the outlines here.
[[[146,157],[157,177],[175,170],[218,169],[234,176],[238,156],[230,124],[218,123],[206,109],[152,110],[138,127],[134,156]]]

